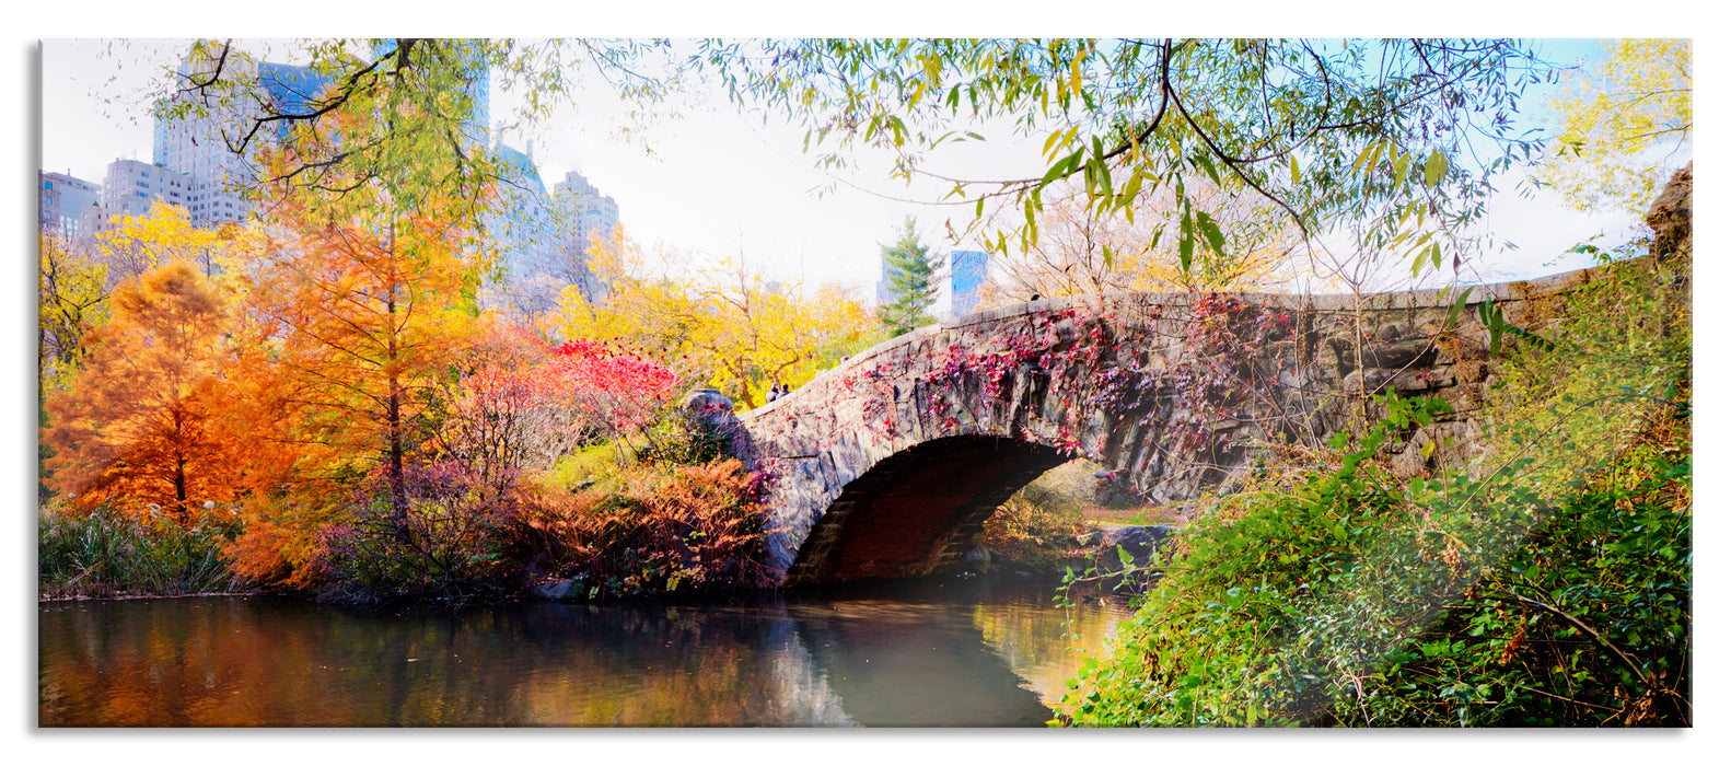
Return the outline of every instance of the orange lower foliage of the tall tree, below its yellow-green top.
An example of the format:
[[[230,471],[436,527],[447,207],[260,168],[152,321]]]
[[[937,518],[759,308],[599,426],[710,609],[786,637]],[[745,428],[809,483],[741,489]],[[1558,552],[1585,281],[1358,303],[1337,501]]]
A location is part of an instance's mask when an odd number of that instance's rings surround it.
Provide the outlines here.
[[[232,553],[254,579],[310,584],[305,565],[358,496],[377,492],[386,523],[407,523],[414,463],[434,449],[443,381],[471,334],[471,232],[433,201],[393,215],[388,199],[358,204],[365,194],[279,203],[277,241],[237,277],[234,376],[258,492]]]

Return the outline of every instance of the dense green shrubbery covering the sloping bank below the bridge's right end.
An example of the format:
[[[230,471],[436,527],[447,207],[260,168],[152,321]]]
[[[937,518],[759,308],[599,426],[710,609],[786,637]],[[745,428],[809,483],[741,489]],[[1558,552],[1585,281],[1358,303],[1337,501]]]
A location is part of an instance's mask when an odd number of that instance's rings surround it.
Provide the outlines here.
[[[1686,295],[1648,262],[1504,367],[1471,471],[1395,480],[1388,411],[1331,468],[1181,537],[1061,707],[1091,726],[1684,726]]]

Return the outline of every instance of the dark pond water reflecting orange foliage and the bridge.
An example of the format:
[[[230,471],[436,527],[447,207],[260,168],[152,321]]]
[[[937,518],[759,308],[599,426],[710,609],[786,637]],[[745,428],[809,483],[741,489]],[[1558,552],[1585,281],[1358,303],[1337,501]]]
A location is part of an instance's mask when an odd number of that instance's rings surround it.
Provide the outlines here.
[[[924,581],[734,603],[38,607],[40,726],[1042,726],[1122,605]]]

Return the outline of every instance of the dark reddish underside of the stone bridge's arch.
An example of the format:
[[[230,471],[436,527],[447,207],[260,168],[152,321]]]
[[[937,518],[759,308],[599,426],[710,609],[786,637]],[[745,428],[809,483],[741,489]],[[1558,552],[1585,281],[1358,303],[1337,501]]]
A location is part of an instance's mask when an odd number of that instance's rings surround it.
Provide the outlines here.
[[[1006,437],[945,437],[885,458],[812,525],[789,586],[926,577],[956,567],[980,525],[1070,456]]]

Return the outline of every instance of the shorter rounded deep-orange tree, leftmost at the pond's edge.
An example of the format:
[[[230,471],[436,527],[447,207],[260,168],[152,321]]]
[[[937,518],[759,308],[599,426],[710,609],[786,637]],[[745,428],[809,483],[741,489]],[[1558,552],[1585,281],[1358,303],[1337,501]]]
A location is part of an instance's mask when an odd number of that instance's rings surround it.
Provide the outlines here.
[[[242,489],[244,442],[223,419],[227,298],[185,262],[123,284],[71,385],[48,399],[50,485],[80,508],[163,510]]]

